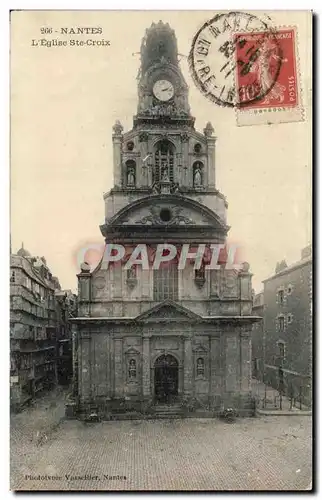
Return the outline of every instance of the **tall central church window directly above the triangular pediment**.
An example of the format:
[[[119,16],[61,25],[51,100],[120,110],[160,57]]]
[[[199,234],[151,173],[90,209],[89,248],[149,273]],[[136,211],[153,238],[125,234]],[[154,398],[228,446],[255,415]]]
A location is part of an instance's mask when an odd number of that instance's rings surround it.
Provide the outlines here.
[[[178,300],[178,269],[170,264],[153,271],[153,297],[160,301],[165,299]]]

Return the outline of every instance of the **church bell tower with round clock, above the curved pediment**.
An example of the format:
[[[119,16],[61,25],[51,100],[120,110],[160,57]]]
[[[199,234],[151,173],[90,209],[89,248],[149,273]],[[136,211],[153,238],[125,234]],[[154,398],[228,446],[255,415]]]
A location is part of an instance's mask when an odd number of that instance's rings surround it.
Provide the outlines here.
[[[106,218],[141,197],[183,195],[217,210],[214,128],[195,130],[177,39],[168,23],[153,23],[140,50],[133,127],[113,127],[114,188],[104,196]],[[117,199],[117,201],[116,201]],[[225,201],[224,201],[225,203]],[[221,202],[222,204],[222,202]],[[224,215],[224,214],[222,214]]]

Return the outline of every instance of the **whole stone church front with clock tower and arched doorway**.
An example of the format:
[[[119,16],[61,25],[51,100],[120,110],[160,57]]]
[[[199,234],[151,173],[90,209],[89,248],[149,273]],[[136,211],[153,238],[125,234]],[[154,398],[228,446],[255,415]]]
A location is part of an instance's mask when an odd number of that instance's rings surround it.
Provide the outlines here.
[[[179,405],[216,415],[249,413],[252,288],[249,265],[210,269],[204,253],[179,269],[153,266],[157,245],[224,245],[227,202],[216,188],[216,138],[194,127],[188,87],[168,24],[141,46],[133,128],[113,127],[114,187],[104,195],[106,245],[122,260],[78,274],[75,366],[80,414],[153,413]],[[127,266],[137,245],[149,267]],[[227,267],[227,266],[226,266]],[[122,410],[123,409],[123,410]],[[210,413],[209,413],[210,412]]]

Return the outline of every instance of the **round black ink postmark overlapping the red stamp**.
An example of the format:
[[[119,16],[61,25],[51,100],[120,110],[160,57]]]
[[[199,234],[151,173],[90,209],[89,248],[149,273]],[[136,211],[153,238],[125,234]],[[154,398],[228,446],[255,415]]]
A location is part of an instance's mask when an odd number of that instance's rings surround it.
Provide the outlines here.
[[[277,82],[282,51],[269,21],[246,12],[217,14],[193,38],[189,68],[201,93],[221,106],[249,107]]]

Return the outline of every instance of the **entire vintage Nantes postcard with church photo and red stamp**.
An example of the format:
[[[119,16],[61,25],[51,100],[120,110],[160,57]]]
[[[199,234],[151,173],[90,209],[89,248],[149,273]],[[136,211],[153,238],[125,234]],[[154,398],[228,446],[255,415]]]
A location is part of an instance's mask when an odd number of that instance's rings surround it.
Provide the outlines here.
[[[11,489],[312,489],[312,12],[10,30]]]

